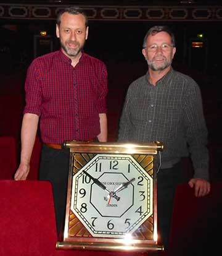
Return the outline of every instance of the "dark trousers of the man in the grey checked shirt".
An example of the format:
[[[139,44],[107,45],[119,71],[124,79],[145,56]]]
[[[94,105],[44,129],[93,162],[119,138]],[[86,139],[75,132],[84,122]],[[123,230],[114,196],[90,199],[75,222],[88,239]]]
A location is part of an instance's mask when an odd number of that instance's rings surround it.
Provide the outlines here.
[[[176,186],[183,182],[186,182],[186,179],[184,179],[181,162],[175,164],[173,168],[160,169],[157,174],[158,230],[160,231],[160,236],[165,249],[168,248]]]

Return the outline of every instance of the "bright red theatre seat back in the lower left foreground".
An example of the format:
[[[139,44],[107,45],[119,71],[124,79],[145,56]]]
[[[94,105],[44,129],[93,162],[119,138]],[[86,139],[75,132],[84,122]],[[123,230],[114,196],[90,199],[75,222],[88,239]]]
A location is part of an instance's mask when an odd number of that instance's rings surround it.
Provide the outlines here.
[[[47,181],[0,181],[0,255],[51,256],[57,241]]]

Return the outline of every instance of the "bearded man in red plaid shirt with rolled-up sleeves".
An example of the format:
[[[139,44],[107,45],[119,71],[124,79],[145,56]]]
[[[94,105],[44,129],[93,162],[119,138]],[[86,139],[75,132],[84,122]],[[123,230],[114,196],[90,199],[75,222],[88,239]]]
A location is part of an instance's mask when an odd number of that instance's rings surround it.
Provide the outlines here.
[[[56,35],[61,49],[36,58],[28,68],[15,180],[27,179],[39,123],[43,141],[39,179],[52,182],[59,233],[65,216],[69,161],[69,151],[62,143],[107,141],[107,69],[102,61],[83,52],[88,19],[82,9],[61,11]]]

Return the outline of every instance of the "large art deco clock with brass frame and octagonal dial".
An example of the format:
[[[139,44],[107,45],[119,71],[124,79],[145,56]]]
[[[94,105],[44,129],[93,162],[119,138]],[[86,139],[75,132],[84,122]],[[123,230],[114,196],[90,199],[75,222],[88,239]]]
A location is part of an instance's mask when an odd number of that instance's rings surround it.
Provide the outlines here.
[[[163,250],[157,236],[155,143],[67,142],[67,210],[58,249]]]

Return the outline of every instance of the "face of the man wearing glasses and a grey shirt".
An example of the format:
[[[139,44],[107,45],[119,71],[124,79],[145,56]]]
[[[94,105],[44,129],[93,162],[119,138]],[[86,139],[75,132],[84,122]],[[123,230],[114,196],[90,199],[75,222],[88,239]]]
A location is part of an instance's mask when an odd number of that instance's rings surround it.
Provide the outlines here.
[[[146,48],[142,49],[149,68],[155,71],[167,69],[172,63],[175,52],[176,48],[172,46],[171,37],[167,32],[149,35]]]

